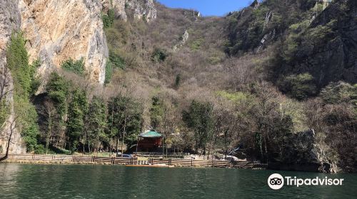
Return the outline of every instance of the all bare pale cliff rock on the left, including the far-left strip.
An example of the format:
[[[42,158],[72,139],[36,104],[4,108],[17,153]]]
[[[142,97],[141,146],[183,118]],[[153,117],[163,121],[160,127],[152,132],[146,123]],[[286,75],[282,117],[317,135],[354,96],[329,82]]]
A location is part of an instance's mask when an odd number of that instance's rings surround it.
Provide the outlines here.
[[[100,84],[104,83],[109,56],[102,15],[114,9],[116,18],[124,21],[129,14],[146,21],[156,18],[153,0],[0,0],[0,5],[1,69],[6,65],[5,52],[11,32],[22,31],[30,63],[41,61],[38,70],[41,77],[46,77],[70,58],[83,58],[89,78]],[[11,87],[9,85],[8,90]],[[12,121],[15,115],[11,93],[6,98],[11,104],[9,121]],[[10,131],[7,123],[0,134],[0,153],[6,149],[6,135]],[[25,152],[21,136],[16,130],[12,142],[15,144],[11,145],[11,153]]]

